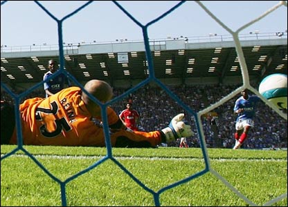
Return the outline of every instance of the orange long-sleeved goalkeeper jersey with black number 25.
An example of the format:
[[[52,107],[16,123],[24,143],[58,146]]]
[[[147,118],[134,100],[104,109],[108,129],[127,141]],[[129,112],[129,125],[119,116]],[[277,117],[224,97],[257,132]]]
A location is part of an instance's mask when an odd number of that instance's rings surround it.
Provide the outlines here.
[[[53,146],[105,146],[103,128],[91,121],[91,115],[81,99],[81,88],[64,88],[57,94],[44,98],[27,99],[20,104],[21,127],[24,145]],[[100,117],[96,117],[100,119]],[[107,108],[109,126],[119,117]],[[135,141],[147,140],[152,146],[161,142],[160,132],[120,132],[111,135],[112,146],[117,136]],[[16,128],[10,144],[17,144]]]

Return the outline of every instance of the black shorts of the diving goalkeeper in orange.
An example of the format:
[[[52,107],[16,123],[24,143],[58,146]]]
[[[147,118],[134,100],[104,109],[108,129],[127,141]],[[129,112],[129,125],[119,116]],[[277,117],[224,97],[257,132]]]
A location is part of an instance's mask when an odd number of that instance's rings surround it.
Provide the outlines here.
[[[14,128],[14,105],[7,101],[1,101],[1,144],[9,144]]]

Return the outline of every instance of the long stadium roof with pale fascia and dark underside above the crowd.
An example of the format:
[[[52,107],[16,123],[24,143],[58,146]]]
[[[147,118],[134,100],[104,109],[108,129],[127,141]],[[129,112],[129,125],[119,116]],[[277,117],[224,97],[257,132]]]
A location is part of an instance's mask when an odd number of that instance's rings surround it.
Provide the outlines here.
[[[241,44],[249,75],[287,74],[287,38],[243,40]],[[63,50],[64,68],[78,81],[142,80],[149,75],[143,41],[68,44]],[[187,39],[166,39],[150,41],[150,50],[159,79],[215,77],[221,81],[241,76],[233,41],[190,43]],[[13,50],[1,46],[1,81],[8,85],[42,81],[48,60],[59,61],[59,54],[58,48],[51,46]]]

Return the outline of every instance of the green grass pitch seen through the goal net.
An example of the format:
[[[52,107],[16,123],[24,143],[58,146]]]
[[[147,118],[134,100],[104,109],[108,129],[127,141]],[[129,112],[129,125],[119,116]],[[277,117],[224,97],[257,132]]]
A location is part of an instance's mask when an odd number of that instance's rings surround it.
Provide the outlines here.
[[[1,155],[15,146],[1,146]],[[66,181],[106,155],[106,148],[25,146]],[[200,148],[113,148],[114,158],[158,192],[205,168]],[[1,160],[1,206],[62,206],[60,184],[18,151]],[[22,154],[22,155],[21,155]],[[57,156],[54,156],[57,155]],[[256,205],[287,193],[287,151],[208,149],[210,166]],[[212,172],[164,190],[161,206],[249,206]],[[148,192],[107,159],[66,184],[67,206],[155,206]],[[287,206],[287,196],[273,206]]]

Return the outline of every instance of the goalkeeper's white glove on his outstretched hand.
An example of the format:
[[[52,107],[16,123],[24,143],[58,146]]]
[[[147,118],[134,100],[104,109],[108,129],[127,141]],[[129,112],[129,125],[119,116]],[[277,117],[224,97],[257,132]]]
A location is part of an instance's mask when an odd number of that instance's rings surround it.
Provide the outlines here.
[[[169,143],[170,141],[174,141],[181,137],[191,137],[193,135],[191,126],[185,124],[182,121],[183,117],[184,117],[183,113],[175,116],[170,121],[169,126],[161,130],[166,137],[166,143]]]

